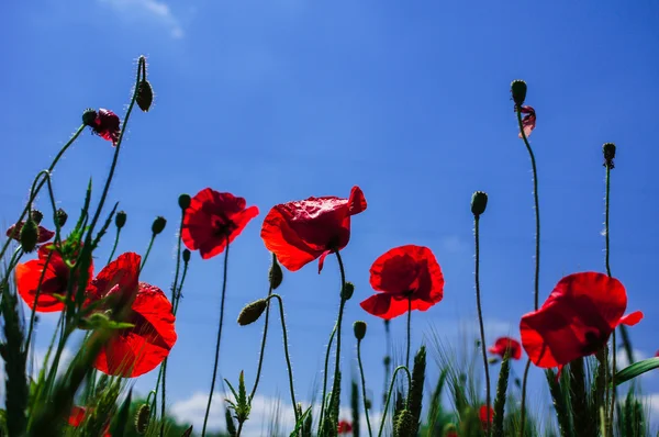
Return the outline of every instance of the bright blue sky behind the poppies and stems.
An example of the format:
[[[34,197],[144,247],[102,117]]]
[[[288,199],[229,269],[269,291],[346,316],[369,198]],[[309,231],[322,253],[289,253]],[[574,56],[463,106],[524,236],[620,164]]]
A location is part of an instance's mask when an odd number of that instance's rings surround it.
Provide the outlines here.
[[[369,324],[364,357],[376,399],[384,340],[382,323],[358,306],[371,294],[368,269],[391,247],[431,247],[445,273],[445,299],[414,314],[414,346],[431,326],[457,345],[458,328],[472,325],[476,310],[474,190],[490,197],[481,220],[488,341],[518,336],[518,320],[533,307],[534,210],[529,160],[509,100],[516,78],[527,81],[527,103],[538,114],[530,139],[540,183],[541,300],[563,274],[604,269],[601,146],[614,142],[612,269],[628,291],[628,311],[645,312],[632,329],[635,349],[646,357],[659,349],[655,2],[44,0],[0,11],[0,40],[10,42],[0,47],[0,220],[15,218],[33,176],[86,108],[123,116],[141,54],[156,101],[131,119],[109,195],[129,214],[120,253],[144,253],[153,218],[166,216],[142,276],[166,290],[179,193],[212,187],[259,206],[231,250],[222,377],[235,381],[242,369],[248,381],[254,377],[261,327],[233,321],[267,292],[269,255],[259,229],[268,210],[310,195],[347,197],[354,184],[369,205],[354,217],[343,254],[356,284],[346,327],[360,318]],[[112,153],[89,133],[78,139],[54,175],[59,206],[75,214],[90,176],[98,195]],[[111,244],[108,237],[99,250],[97,270]],[[193,256],[169,361],[172,408],[196,423],[194,402],[206,395],[212,371],[221,261]],[[328,259],[321,276],[315,266],[286,274],[280,290],[302,400],[320,378],[338,281]],[[44,321],[41,347],[52,323]],[[404,320],[392,329],[402,347]],[[280,335],[273,325],[259,392],[287,401]],[[349,329],[345,339],[347,374]],[[543,374],[532,373],[539,400]],[[138,390],[154,380],[142,378]],[[644,380],[659,401],[659,379]]]

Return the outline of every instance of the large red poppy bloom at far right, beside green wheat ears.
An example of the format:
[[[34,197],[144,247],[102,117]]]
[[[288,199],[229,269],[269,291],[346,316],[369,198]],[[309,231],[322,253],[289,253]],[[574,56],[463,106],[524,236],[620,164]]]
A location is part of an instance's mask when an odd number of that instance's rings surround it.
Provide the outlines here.
[[[615,278],[596,272],[561,279],[543,306],[522,317],[522,345],[540,368],[562,366],[594,354],[619,325],[635,325],[640,311],[623,316],[627,293]]]

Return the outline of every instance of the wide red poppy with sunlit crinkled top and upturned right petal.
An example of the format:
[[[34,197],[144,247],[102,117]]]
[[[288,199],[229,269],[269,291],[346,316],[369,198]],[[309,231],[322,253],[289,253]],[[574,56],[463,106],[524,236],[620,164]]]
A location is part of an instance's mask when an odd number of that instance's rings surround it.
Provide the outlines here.
[[[268,250],[290,271],[320,258],[319,273],[328,254],[342,250],[350,239],[350,216],[366,210],[359,187],[349,199],[309,198],[276,205],[261,228]]]

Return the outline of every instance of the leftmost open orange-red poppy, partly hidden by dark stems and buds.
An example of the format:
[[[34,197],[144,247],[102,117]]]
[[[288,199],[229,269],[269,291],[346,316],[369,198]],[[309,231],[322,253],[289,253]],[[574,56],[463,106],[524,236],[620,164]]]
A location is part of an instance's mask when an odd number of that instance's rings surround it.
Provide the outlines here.
[[[63,242],[64,244],[64,242]],[[48,260],[48,254],[51,254]],[[48,265],[46,267],[46,260]],[[44,272],[45,268],[45,272]],[[59,251],[55,250],[53,245],[44,245],[38,248],[37,259],[19,264],[15,269],[16,274],[16,288],[19,294],[25,301],[25,303],[32,309],[35,305],[34,298],[36,296],[36,290],[38,289],[38,282],[41,284],[41,291],[38,299],[36,300],[35,311],[40,313],[52,313],[55,311],[62,311],[64,303],[58,301],[54,294],[65,296],[68,290],[70,279],[70,270],[65,264]],[[89,266],[88,278],[93,277],[93,262]],[[74,279],[72,295],[76,294],[78,289],[78,279]]]

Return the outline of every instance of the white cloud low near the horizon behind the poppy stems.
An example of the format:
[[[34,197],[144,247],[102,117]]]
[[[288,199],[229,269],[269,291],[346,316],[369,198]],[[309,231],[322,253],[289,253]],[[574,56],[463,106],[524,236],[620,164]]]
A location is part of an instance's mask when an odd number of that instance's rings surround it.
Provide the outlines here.
[[[209,429],[225,429],[224,407],[226,403],[224,399],[223,393],[215,392],[213,394],[213,403],[211,404],[211,412],[209,414]],[[201,430],[208,400],[208,394],[194,393],[187,400],[176,402],[171,406],[170,413],[178,421],[191,423],[194,429]],[[302,402],[302,405],[309,405],[309,402]],[[317,418],[319,411],[320,407],[315,406],[313,410],[314,418]],[[351,422],[350,410],[343,407],[340,410],[340,418]],[[275,421],[278,423],[279,434],[288,435],[294,428],[295,419],[291,403],[276,397],[256,395],[252,401],[249,419],[245,423],[241,435],[244,437],[268,436],[270,424]],[[370,421],[371,427],[377,427],[380,421],[379,414],[371,414]],[[360,422],[361,426],[366,429],[366,417],[362,416]]]

